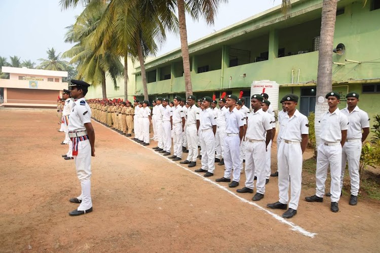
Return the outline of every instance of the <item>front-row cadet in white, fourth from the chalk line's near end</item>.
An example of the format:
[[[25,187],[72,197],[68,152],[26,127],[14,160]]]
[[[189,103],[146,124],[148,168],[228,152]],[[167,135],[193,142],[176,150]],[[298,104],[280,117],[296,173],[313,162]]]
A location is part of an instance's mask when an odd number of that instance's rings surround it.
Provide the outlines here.
[[[204,177],[214,176],[215,170],[215,133],[216,133],[216,118],[210,108],[212,98],[203,97],[203,110],[200,114],[200,142],[202,152],[202,167],[195,172],[206,172]]]

